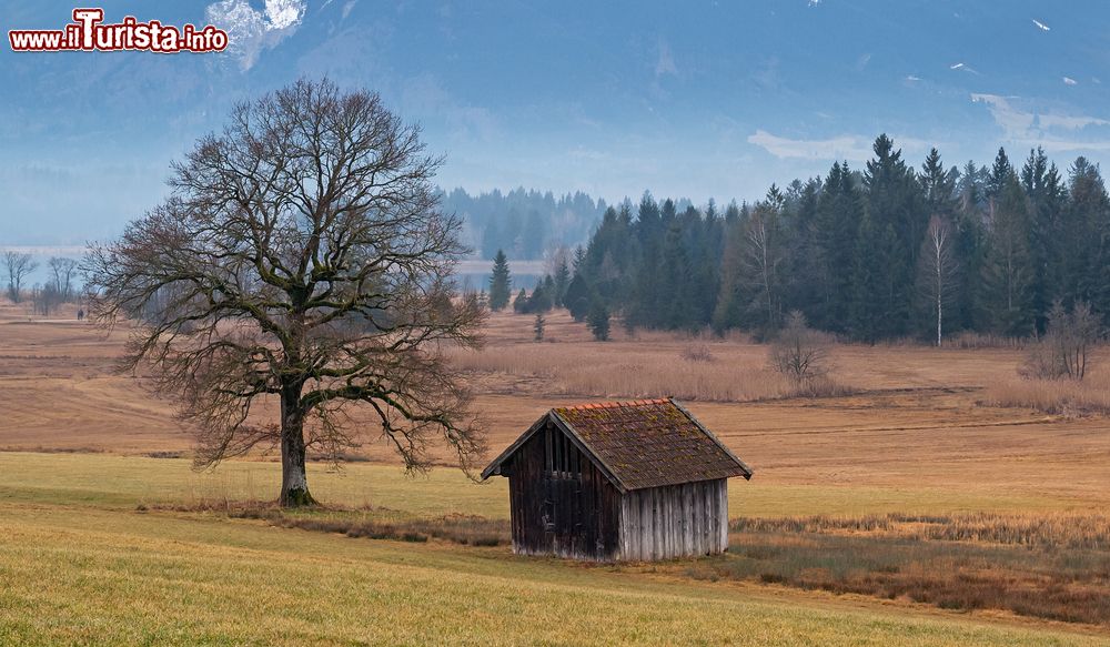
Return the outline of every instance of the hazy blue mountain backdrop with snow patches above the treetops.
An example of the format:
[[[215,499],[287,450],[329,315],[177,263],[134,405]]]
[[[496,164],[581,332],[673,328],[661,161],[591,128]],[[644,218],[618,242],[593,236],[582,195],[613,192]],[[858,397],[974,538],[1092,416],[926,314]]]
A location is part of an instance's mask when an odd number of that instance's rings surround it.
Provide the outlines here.
[[[117,235],[171,160],[230,105],[301,75],[381,92],[468,191],[608,201],[756,199],[855,166],[879,132],[919,164],[1043,145],[1110,155],[1110,4],[763,2],[95,2],[214,23],[225,54],[13,53],[0,46],[0,246]],[[72,6],[3,0],[4,29]]]

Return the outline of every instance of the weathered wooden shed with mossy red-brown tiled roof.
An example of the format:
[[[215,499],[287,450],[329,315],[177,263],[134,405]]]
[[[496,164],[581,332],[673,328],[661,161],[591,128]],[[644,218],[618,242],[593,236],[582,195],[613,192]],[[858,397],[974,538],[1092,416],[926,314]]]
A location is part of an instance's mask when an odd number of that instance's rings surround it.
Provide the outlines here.
[[[516,553],[649,560],[728,549],[728,478],[751,469],[666,398],[553,408],[494,475],[508,477]]]

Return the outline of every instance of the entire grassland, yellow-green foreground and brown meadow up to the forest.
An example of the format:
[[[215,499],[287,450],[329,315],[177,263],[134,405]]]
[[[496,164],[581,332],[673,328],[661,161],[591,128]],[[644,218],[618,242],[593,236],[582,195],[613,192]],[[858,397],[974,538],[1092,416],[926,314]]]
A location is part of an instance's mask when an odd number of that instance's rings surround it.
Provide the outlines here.
[[[310,469],[327,509],[280,514],[270,458],[190,468],[172,403],[112,371],[124,331],[0,302],[0,644],[1110,643],[1110,357],[1057,393],[1019,350],[838,346],[846,395],[808,398],[739,336],[546,337],[497,314],[452,352],[491,452],[674,395],[756,469],[728,555],[515,557],[502,481],[410,479],[372,439]]]

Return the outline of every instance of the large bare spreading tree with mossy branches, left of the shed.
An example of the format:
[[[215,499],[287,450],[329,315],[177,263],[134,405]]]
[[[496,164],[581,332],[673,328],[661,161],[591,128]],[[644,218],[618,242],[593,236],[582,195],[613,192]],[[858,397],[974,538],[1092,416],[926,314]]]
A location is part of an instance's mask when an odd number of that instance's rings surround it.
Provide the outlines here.
[[[281,505],[312,504],[306,451],[357,445],[356,412],[410,471],[440,437],[473,466],[482,435],[441,346],[477,345],[482,312],[453,300],[466,250],[438,210],[440,163],[377,94],[300,81],[236,107],[174,164],[163,204],[94,246],[92,312],[147,312],[128,366],[180,398],[199,466],[276,445]]]

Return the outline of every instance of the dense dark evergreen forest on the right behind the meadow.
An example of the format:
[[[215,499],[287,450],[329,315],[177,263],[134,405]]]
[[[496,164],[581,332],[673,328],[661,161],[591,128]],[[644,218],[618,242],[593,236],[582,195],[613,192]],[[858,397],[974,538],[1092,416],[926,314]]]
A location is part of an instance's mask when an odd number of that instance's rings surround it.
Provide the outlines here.
[[[1097,165],[1078,158],[1064,176],[1041,149],[1020,168],[999,149],[991,166],[958,170],[934,149],[915,169],[886,135],[874,152],[861,170],[837,162],[754,204],[679,210],[645,193],[606,208],[551,301],[578,320],[604,311],[628,327],[764,336],[797,311],[865,342],[1043,334],[1057,303],[1106,323],[1110,200]]]

